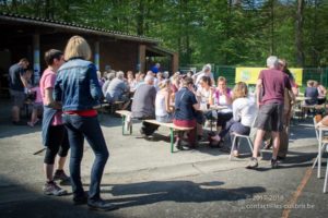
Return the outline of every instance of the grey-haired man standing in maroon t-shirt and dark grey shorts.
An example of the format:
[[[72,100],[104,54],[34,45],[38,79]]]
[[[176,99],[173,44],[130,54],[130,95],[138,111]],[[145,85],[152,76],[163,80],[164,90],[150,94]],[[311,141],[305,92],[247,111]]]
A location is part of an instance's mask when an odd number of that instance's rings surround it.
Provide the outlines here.
[[[284,88],[291,90],[291,83],[289,77],[278,69],[278,58],[270,56],[267,59],[268,70],[262,70],[257,81],[257,105],[259,112],[256,121],[257,133],[254,143],[253,157],[246,167],[247,169],[255,169],[258,167],[257,156],[262,144],[262,138],[266,131],[272,131],[273,153],[271,159],[271,167],[278,167],[277,155],[280,146],[280,132],[283,129],[283,101]],[[260,95],[262,89],[262,96]]]

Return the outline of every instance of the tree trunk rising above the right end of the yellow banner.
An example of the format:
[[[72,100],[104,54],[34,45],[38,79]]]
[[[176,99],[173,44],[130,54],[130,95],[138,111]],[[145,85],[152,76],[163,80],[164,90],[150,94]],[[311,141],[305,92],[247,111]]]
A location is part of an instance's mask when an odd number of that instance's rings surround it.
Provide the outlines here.
[[[296,11],[296,63],[300,66],[304,65],[304,51],[303,51],[303,23],[304,23],[304,0],[297,0]]]

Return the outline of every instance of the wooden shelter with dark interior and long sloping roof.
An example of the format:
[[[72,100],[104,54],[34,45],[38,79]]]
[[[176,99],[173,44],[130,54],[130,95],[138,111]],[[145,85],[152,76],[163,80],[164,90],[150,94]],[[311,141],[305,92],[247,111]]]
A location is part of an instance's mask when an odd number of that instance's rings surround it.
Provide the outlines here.
[[[152,57],[167,57],[169,65],[163,70],[178,69],[178,55],[159,47],[159,39],[137,36],[104,28],[79,25],[40,17],[0,13],[0,75],[7,74],[11,64],[26,57],[35,75],[45,69],[44,53],[56,48],[63,50],[73,35],[83,36],[92,47],[93,62],[101,71],[113,70],[145,72],[151,69]]]

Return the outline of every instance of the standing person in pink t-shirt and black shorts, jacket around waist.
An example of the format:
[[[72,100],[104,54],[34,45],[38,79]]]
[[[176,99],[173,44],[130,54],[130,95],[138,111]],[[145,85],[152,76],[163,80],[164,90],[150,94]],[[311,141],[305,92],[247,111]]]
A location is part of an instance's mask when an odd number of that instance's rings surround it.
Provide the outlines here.
[[[67,177],[63,171],[63,166],[70,146],[61,120],[61,105],[54,100],[52,93],[57,70],[65,62],[63,53],[59,50],[50,49],[45,53],[45,61],[48,68],[39,81],[40,96],[44,104],[43,144],[47,148],[44,159],[44,171],[47,180],[44,185],[44,193],[59,196],[67,194],[67,191],[58,186],[55,180],[61,180],[62,182],[69,180],[69,177]],[[57,155],[58,169],[54,175],[54,164]]]

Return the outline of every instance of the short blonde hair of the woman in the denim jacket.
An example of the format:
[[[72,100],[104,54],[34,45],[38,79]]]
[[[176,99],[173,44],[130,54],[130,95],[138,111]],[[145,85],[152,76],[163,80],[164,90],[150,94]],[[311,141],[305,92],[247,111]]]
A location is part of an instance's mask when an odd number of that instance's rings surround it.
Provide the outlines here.
[[[65,48],[65,60],[71,58],[91,59],[91,49],[86,40],[81,36],[72,36]]]

